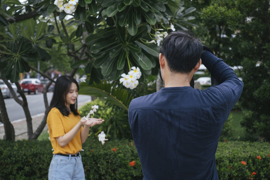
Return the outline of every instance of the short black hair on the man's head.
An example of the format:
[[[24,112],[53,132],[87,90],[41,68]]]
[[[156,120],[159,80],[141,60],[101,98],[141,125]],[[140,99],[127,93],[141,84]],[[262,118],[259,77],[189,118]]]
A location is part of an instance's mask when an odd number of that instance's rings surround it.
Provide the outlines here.
[[[188,73],[200,59],[202,44],[189,31],[170,32],[160,48],[172,72]]]

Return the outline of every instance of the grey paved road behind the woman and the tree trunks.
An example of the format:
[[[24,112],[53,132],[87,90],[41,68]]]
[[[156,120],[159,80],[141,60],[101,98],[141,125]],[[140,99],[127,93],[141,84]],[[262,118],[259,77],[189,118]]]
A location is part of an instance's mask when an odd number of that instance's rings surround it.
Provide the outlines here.
[[[43,93],[39,92],[38,94],[25,94],[29,106],[31,116],[44,113],[45,105],[43,101]],[[52,97],[52,92],[47,92],[47,99],[50,102]],[[91,97],[89,95],[78,95],[78,103],[85,101],[90,101]],[[5,98],[4,99],[7,114],[10,121],[18,120],[25,118],[22,107],[13,99]],[[1,125],[1,123],[0,123]]]

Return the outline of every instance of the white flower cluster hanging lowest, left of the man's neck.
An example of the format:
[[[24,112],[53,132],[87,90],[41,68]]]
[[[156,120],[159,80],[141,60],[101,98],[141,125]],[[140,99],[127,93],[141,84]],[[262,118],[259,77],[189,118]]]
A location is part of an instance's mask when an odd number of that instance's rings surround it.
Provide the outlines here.
[[[141,71],[139,70],[138,67],[131,67],[131,70],[125,74],[121,74],[120,83],[123,83],[123,86],[126,88],[133,89],[138,85],[138,80],[141,76]]]

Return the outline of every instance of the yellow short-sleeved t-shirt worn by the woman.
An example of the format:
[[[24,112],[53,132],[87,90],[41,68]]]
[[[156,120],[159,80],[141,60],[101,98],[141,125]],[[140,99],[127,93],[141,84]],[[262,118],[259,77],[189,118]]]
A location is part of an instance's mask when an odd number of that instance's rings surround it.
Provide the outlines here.
[[[61,147],[56,140],[56,137],[64,135],[72,129],[79,120],[80,116],[74,115],[72,112],[70,112],[68,116],[64,116],[57,108],[53,107],[50,109],[47,116],[47,124],[53,154],[75,154],[81,150],[80,132],[82,127],[64,147]]]

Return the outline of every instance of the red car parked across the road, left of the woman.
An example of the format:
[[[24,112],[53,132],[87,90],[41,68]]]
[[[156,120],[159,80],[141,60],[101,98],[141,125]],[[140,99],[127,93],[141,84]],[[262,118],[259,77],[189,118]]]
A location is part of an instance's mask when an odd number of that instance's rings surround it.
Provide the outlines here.
[[[31,92],[36,94],[37,92],[43,92],[44,90],[44,85],[37,78],[24,78],[20,81],[19,84],[22,91],[27,92],[28,94]]]

